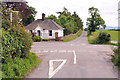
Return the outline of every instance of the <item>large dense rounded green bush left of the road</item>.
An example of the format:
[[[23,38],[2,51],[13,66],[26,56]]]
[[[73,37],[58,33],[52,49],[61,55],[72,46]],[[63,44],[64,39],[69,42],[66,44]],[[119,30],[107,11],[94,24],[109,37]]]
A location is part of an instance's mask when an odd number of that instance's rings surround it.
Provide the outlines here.
[[[27,57],[32,45],[31,34],[20,25],[2,29],[2,63],[10,58]]]

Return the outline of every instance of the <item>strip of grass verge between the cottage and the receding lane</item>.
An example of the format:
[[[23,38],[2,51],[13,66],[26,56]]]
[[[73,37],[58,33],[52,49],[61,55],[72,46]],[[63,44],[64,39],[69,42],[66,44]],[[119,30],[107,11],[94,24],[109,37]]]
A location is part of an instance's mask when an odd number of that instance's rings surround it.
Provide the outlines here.
[[[63,42],[69,42],[69,41],[76,39],[77,37],[80,37],[82,32],[83,32],[82,30],[79,30],[76,34],[71,34],[71,35],[64,37]]]

